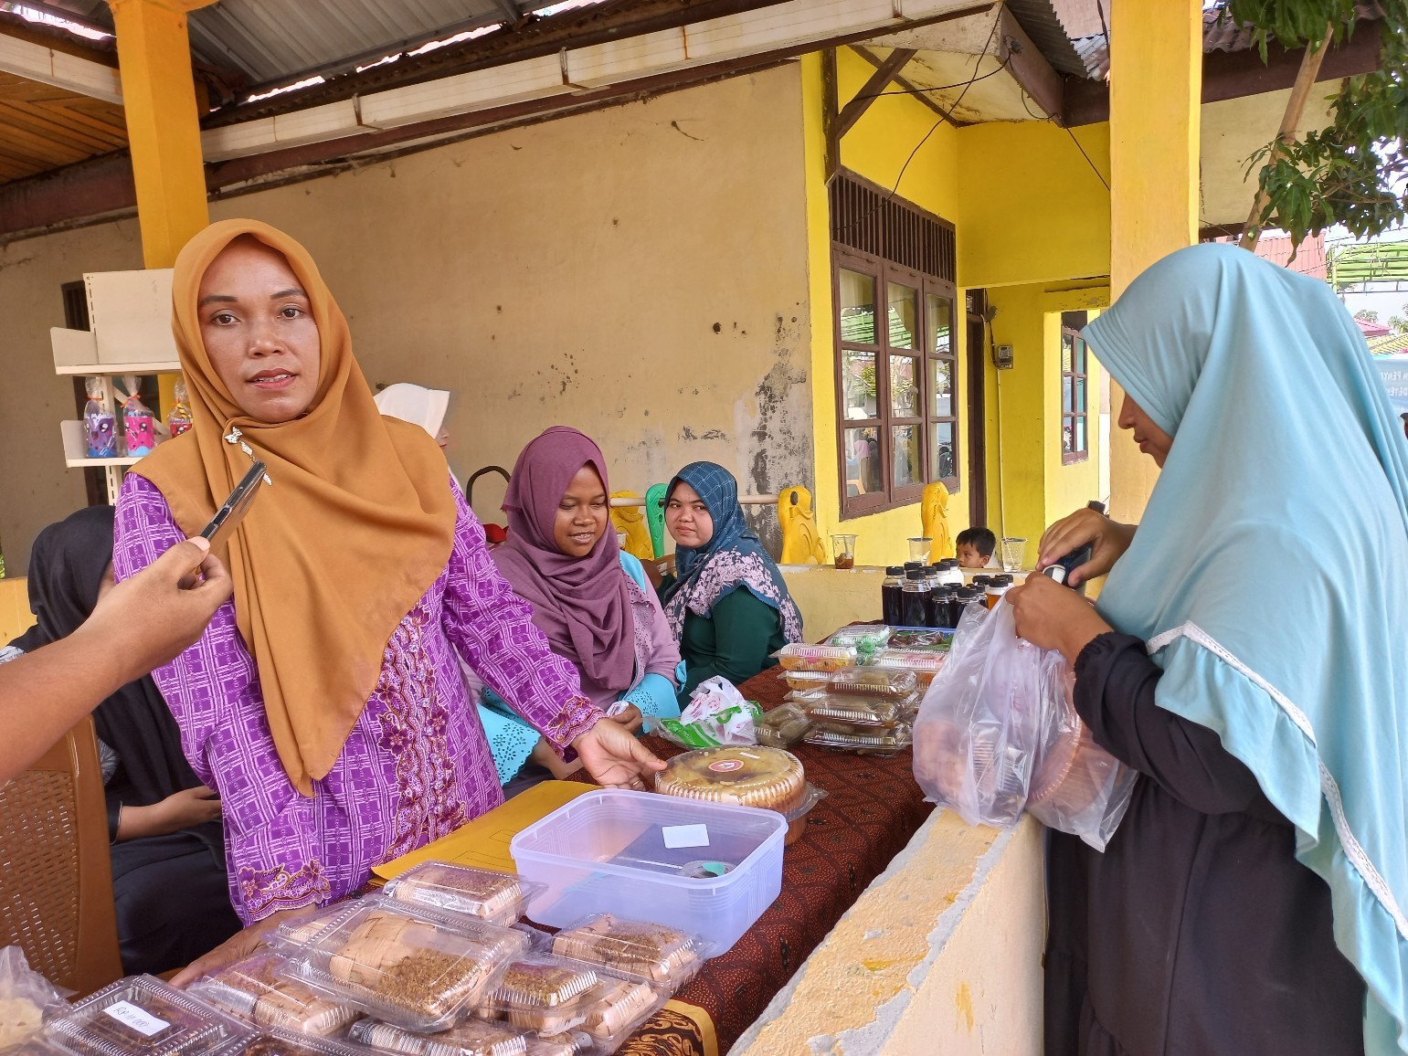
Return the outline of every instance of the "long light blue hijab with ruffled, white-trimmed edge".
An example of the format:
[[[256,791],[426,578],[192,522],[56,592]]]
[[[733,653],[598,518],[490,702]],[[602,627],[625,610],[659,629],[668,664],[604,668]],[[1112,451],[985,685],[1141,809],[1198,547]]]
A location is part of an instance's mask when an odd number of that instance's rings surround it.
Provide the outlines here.
[[[1164,258],[1086,338],[1174,436],[1100,611],[1295,826],[1366,1052],[1408,1052],[1408,444],[1364,338],[1325,283],[1231,245]]]

